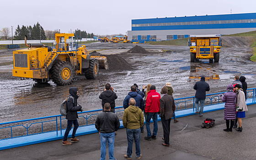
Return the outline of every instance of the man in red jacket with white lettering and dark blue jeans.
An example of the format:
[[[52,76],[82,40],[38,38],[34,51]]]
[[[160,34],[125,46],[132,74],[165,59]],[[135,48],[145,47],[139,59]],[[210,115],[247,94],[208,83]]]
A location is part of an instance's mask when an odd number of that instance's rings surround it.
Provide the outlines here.
[[[158,118],[158,113],[160,112],[160,98],[161,98],[160,94],[155,91],[155,85],[151,85],[150,91],[148,92],[148,96],[146,99],[146,107],[145,107],[147,137],[144,137],[144,139],[146,140],[156,139],[156,134],[158,130],[157,118]],[[154,121],[153,135],[151,135],[151,131],[150,131],[151,118]]]

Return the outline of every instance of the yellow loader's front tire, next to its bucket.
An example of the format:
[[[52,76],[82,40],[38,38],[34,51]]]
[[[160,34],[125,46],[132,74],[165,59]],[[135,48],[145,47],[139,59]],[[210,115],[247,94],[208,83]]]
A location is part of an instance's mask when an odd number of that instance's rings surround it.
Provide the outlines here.
[[[85,77],[88,80],[95,80],[99,75],[98,59],[90,59],[89,68],[85,70]]]

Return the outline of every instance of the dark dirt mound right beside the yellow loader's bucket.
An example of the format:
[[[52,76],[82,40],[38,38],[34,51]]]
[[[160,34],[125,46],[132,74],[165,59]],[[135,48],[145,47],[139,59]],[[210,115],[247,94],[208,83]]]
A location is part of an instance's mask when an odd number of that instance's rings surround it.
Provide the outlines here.
[[[131,64],[123,59],[120,55],[117,54],[110,54],[104,55],[107,57],[107,63],[109,66],[109,70],[130,70],[132,69]]]

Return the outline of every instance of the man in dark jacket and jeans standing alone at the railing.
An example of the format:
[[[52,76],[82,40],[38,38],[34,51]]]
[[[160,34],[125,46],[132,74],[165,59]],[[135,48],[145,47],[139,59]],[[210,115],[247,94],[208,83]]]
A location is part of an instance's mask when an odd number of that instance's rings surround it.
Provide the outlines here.
[[[210,91],[208,83],[205,82],[205,78],[201,77],[201,80],[194,85],[194,90],[197,90],[195,96],[195,107],[196,113],[199,113],[199,117],[203,116],[203,107],[206,98],[206,91]],[[200,101],[200,112],[199,112],[199,101]]]

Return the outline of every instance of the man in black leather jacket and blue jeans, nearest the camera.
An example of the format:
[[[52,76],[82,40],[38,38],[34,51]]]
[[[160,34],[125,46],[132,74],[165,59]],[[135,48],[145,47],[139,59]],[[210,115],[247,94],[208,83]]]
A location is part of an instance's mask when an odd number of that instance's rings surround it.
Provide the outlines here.
[[[110,104],[105,103],[104,111],[100,113],[95,122],[95,128],[101,135],[101,160],[106,158],[106,144],[108,142],[109,160],[114,158],[115,132],[120,127],[120,122],[115,113],[110,112]]]

